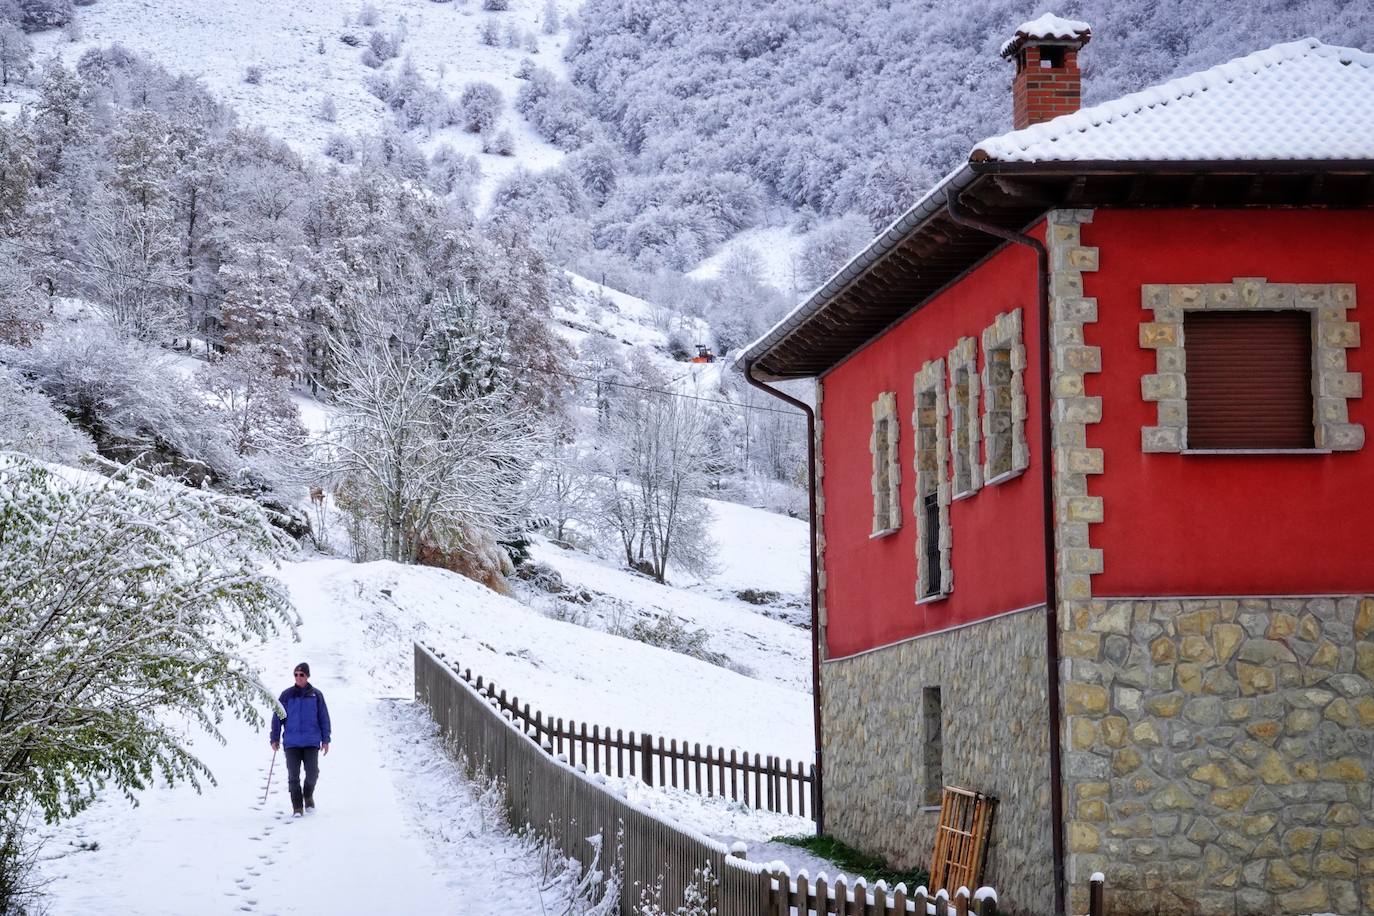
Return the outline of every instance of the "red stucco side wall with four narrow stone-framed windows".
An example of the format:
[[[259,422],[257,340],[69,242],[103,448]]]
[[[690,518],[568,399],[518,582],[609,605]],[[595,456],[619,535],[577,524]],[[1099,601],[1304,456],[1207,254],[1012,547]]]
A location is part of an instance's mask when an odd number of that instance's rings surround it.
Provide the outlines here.
[[[982,330],[998,313],[1015,308],[1022,310],[1029,363],[1025,391],[1030,467],[1002,483],[984,485],[974,496],[949,507],[954,592],[947,599],[916,604],[912,379],[926,360],[947,357],[960,336],[978,339],[981,371]],[[1043,600],[1037,352],[1035,255],[1024,246],[1009,246],[824,376],[822,450],[830,658]],[[870,540],[868,437],[871,405],[882,391],[897,393],[903,525],[896,534]]]

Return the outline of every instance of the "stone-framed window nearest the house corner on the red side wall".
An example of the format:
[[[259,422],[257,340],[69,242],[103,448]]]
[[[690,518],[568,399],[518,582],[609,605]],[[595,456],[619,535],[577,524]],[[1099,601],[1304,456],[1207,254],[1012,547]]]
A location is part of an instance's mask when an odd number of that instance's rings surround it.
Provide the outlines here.
[[[982,478],[998,483],[1030,464],[1026,444],[1026,349],[1021,309],[1003,312],[982,332]]]

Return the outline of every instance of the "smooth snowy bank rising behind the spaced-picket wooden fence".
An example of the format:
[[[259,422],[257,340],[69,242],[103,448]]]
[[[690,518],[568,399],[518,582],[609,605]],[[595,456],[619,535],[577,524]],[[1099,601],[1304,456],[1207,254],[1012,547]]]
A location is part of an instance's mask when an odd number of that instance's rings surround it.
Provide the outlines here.
[[[543,617],[444,570],[341,560],[298,564],[337,621],[359,633],[360,673],[411,687],[419,639],[547,714],[811,757],[811,698],[706,662]],[[691,698],[691,699],[688,699]]]

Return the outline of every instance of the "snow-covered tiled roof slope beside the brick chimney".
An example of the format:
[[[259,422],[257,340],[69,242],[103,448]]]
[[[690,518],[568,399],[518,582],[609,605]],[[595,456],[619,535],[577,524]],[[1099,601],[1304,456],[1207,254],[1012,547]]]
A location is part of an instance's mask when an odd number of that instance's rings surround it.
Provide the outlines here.
[[[974,147],[970,158],[974,162],[1374,159],[1374,55],[1316,38],[1276,44],[1210,70],[991,137]]]

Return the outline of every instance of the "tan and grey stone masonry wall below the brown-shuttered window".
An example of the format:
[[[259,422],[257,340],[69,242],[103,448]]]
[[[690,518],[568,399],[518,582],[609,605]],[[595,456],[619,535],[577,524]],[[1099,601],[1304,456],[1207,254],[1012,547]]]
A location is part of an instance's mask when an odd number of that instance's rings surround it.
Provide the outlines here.
[[[1116,916],[1374,912],[1374,597],[1095,599],[1073,618],[1076,895],[1102,871]]]

